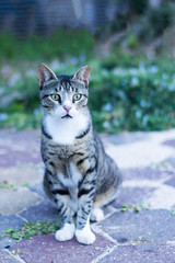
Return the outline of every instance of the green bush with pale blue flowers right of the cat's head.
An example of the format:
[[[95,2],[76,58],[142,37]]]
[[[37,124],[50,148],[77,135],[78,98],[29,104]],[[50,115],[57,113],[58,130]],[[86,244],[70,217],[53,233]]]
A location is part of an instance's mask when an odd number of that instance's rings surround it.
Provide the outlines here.
[[[159,66],[140,62],[129,69],[100,69],[91,83],[91,108],[105,116],[104,128],[110,133],[171,128],[175,125],[174,68],[172,61],[164,61]]]

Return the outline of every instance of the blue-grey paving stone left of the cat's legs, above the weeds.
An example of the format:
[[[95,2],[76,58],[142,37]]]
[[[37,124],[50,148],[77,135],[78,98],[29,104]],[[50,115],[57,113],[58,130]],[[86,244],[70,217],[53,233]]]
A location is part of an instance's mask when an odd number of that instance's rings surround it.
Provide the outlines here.
[[[58,220],[57,208],[49,201],[44,201],[20,214],[28,221]]]

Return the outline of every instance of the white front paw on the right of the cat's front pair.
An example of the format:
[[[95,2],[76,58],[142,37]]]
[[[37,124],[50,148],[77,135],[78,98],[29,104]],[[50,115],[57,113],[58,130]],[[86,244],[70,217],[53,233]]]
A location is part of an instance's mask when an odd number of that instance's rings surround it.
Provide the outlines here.
[[[75,230],[77,240],[83,244],[91,244],[95,241],[95,235],[91,231],[91,229],[82,229]]]

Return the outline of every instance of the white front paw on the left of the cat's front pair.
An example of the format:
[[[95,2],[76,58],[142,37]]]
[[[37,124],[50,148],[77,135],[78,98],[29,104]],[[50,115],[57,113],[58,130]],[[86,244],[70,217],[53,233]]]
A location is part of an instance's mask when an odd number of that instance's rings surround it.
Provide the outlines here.
[[[55,238],[58,241],[67,241],[73,238],[74,235],[74,224],[66,222],[65,226],[55,233]]]

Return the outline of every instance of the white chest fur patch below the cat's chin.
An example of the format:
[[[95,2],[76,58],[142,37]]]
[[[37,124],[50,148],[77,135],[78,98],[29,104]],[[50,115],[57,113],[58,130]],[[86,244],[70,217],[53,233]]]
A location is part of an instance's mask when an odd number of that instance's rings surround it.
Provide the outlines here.
[[[83,114],[73,118],[46,116],[45,124],[49,135],[59,145],[73,145],[74,139],[88,127],[88,116]]]

